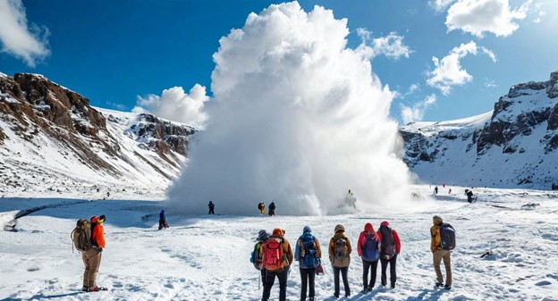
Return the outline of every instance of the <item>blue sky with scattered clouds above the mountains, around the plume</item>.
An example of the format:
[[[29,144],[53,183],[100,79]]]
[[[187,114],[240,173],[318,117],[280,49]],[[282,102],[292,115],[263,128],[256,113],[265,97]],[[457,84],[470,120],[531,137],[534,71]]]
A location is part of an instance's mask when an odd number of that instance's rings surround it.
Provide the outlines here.
[[[212,96],[219,39],[270,4],[0,0],[0,71],[40,73],[121,111],[172,97],[199,105]],[[558,71],[558,1],[300,2],[314,5],[347,19],[348,47],[368,46],[400,124],[486,113],[511,85]]]

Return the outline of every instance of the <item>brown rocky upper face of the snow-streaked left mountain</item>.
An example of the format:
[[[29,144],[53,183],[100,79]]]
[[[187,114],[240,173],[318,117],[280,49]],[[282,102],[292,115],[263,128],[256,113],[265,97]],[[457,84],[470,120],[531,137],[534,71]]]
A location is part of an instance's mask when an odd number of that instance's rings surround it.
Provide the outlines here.
[[[123,118],[126,114],[129,117]],[[27,141],[38,155],[41,146],[60,145],[56,149],[64,158],[75,156],[91,171],[115,179],[123,179],[131,171],[145,175],[144,167],[135,166],[138,159],[165,179],[172,179],[187,155],[188,137],[196,132],[150,114],[138,117],[114,112],[106,116],[91,107],[89,99],[29,73],[0,76],[0,121],[9,127],[0,127],[0,145],[9,139],[6,130]],[[109,122],[114,126],[109,127]],[[125,142],[121,136],[132,141]],[[152,155],[139,154],[133,147]]]

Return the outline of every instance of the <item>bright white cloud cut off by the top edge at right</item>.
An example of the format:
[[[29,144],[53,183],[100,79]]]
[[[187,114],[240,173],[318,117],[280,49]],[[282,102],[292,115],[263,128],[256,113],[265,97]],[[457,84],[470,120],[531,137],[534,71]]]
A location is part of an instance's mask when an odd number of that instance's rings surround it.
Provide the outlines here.
[[[514,21],[525,19],[531,2],[511,10],[509,0],[459,0],[448,10],[445,25],[448,31],[461,29],[478,38],[485,32],[507,37],[520,28]]]

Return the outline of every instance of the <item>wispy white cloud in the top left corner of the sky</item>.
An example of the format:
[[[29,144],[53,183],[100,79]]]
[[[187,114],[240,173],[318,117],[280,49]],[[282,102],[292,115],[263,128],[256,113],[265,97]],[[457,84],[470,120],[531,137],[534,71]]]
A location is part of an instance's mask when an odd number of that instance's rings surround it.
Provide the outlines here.
[[[0,0],[0,52],[21,58],[30,67],[35,67],[50,54],[47,28],[28,25],[25,7],[21,0]]]

